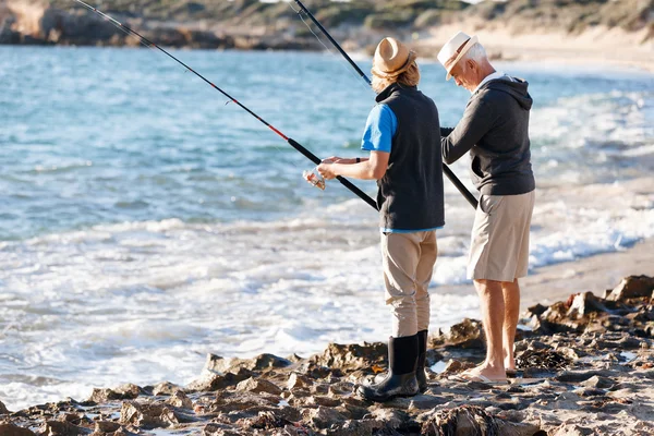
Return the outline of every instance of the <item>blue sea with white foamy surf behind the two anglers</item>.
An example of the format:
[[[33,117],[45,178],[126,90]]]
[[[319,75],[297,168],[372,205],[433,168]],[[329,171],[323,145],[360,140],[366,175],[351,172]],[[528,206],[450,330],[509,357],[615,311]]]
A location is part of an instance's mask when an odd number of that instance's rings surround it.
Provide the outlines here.
[[[174,51],[320,157],[356,156],[373,93],[320,53]],[[376,213],[153,50],[2,47],[0,401],[195,378],[208,352],[308,355],[389,331]],[[362,60],[368,70],[370,60]],[[535,100],[531,267],[654,237],[654,75],[504,63]],[[453,125],[469,93],[421,63]],[[467,158],[452,166],[468,184]],[[446,182],[447,183],[447,182]],[[641,183],[641,189],[634,185]],[[373,195],[371,182],[356,184]],[[473,210],[447,183],[435,327],[479,316]]]

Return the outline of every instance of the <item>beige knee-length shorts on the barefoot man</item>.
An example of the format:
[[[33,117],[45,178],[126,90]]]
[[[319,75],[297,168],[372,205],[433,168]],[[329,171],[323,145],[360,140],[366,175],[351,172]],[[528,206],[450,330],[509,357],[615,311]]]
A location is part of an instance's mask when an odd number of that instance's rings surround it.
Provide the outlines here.
[[[535,198],[535,191],[481,196],[472,227],[469,279],[513,281],[526,276]]]

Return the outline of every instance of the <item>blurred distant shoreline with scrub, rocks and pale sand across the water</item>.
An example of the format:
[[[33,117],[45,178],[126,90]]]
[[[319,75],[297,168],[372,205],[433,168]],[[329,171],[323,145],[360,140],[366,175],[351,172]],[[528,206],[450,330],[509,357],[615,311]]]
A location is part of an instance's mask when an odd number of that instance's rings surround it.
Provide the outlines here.
[[[148,39],[169,47],[324,50],[292,9],[258,0],[89,1]],[[461,28],[499,59],[617,60],[652,68],[652,0],[510,2],[459,0],[307,0],[306,5],[349,51],[371,53],[391,34],[423,57]],[[304,17],[305,21],[308,21]],[[317,29],[313,29],[319,35]],[[326,43],[326,39],[324,43]],[[0,44],[138,46],[137,38],[71,0],[0,0]]]

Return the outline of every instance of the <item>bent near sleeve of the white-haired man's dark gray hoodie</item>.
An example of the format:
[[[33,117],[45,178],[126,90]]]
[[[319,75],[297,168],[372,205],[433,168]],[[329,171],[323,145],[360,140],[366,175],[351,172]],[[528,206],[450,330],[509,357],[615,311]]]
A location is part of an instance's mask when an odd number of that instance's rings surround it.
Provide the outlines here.
[[[455,130],[441,137],[443,160],[453,164],[468,153],[493,126],[495,113],[493,106],[483,98],[475,98],[465,108],[463,118]]]

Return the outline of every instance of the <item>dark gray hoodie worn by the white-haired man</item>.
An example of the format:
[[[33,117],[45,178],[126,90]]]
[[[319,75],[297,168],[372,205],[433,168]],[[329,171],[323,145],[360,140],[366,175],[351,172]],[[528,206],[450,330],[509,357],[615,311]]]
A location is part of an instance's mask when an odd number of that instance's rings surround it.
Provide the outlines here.
[[[470,97],[457,126],[441,130],[443,159],[452,164],[470,150],[472,181],[482,194],[519,195],[535,189],[528,85],[508,76],[485,83]]]

